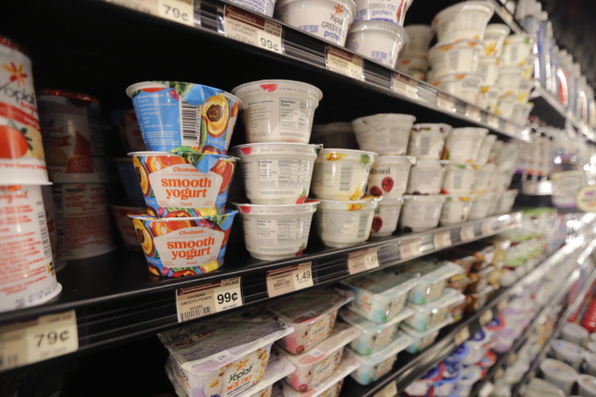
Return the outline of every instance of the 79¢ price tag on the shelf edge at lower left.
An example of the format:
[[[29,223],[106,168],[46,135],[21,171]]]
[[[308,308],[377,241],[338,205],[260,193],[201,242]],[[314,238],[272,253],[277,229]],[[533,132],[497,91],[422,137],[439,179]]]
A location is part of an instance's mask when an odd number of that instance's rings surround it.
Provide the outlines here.
[[[74,310],[0,327],[0,370],[75,352],[79,335]]]

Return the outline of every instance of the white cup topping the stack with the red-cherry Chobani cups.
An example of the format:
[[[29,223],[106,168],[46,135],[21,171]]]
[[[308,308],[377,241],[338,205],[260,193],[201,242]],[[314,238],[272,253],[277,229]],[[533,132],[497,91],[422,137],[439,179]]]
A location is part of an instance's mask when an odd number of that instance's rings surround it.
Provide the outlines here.
[[[409,132],[416,117],[411,114],[380,113],[352,121],[361,150],[381,156],[406,154]]]

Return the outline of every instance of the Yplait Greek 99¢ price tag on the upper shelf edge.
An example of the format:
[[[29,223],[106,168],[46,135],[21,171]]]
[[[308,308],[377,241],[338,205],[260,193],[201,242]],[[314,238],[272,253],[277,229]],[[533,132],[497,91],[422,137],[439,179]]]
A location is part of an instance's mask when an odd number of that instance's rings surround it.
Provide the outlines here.
[[[249,11],[227,4],[224,6],[224,32],[227,38],[283,54],[281,29],[280,24]]]

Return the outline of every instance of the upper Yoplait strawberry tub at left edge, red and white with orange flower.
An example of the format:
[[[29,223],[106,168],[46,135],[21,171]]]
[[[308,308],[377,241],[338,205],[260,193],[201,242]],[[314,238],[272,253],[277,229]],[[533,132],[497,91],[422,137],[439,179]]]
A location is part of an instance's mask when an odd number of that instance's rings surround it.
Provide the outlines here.
[[[0,174],[2,184],[45,184],[44,145],[39,127],[31,60],[25,49],[0,36]]]

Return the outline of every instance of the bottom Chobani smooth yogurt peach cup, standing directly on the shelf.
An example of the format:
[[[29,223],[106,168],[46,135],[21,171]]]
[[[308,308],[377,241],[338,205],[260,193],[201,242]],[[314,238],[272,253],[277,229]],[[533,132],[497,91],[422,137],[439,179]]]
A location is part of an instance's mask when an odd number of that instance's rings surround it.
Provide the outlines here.
[[[238,211],[221,215],[155,218],[129,214],[149,272],[164,277],[203,274],[224,265],[232,221]],[[184,219],[184,220],[182,220]]]

